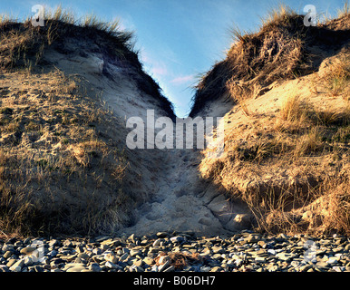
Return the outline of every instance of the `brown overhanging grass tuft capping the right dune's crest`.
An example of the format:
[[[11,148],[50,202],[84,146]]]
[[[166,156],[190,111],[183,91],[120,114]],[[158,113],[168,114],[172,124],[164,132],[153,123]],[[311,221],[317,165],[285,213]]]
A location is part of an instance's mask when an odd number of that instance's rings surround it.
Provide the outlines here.
[[[224,94],[241,103],[258,97],[273,82],[315,72],[329,56],[325,44],[336,51],[348,41],[347,31],[342,29],[348,18],[349,14],[344,12],[339,23],[329,21],[306,27],[303,15],[282,5],[263,20],[256,34],[242,34],[238,28],[233,29],[234,43],[227,58],[216,63],[199,81],[190,116]],[[336,80],[329,85],[331,91],[344,86]]]

